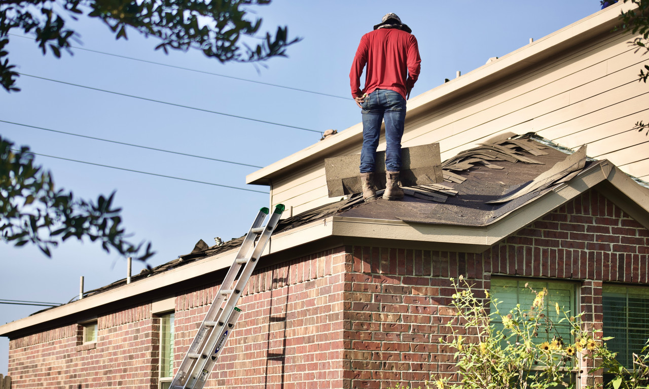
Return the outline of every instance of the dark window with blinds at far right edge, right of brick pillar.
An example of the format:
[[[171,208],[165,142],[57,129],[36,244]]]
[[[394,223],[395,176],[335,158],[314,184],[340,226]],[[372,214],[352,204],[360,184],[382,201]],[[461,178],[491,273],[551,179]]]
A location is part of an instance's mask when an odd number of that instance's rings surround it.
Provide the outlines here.
[[[618,362],[630,368],[633,353],[640,353],[649,338],[649,288],[604,285],[602,305],[603,335],[613,336],[606,344],[618,353]]]

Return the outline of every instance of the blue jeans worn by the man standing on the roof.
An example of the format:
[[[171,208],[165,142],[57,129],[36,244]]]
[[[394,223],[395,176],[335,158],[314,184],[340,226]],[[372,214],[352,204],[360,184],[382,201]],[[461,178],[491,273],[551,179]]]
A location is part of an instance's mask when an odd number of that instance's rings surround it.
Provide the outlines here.
[[[376,147],[381,134],[381,122],[386,120],[386,169],[401,170],[401,137],[406,121],[406,99],[398,92],[377,89],[365,97],[363,110],[363,147],[361,148],[361,173],[375,170]]]

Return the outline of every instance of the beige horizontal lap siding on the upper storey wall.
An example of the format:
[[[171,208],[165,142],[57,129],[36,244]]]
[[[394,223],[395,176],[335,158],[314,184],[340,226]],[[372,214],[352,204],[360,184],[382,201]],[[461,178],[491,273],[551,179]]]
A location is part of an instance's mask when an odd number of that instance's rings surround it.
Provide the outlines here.
[[[531,64],[480,94],[408,116],[402,144],[439,142],[445,160],[500,132],[533,131],[567,147],[589,144],[589,156],[608,158],[646,179],[649,137],[631,128],[649,121],[649,85],[635,81],[648,60],[633,53],[631,38],[607,34],[551,62]],[[382,138],[379,149],[385,146]],[[350,153],[360,153],[360,144],[337,155]],[[291,205],[297,214],[338,200],[326,194],[324,163],[319,163],[273,182],[272,203]]]

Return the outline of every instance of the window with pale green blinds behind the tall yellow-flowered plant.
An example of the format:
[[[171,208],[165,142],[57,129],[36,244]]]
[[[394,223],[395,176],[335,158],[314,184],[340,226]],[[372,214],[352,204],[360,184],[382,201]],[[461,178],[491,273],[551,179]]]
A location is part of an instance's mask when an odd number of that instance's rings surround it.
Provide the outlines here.
[[[498,310],[501,315],[508,314],[509,310],[515,308],[517,304],[520,304],[520,308],[523,311],[532,307],[536,295],[530,289],[526,288],[525,284],[528,284],[528,287],[536,292],[541,292],[543,288],[548,290],[548,295],[545,298],[544,313],[554,323],[554,331],[547,334],[545,331],[539,331],[537,342],[539,344],[550,342],[552,336],[561,336],[565,344],[572,343],[574,340],[570,334],[570,323],[566,320],[559,323],[559,320],[563,318],[563,312],[557,315],[554,307],[555,303],[559,303],[561,310],[564,312],[572,312],[572,315],[574,315],[577,312],[575,299],[577,285],[572,282],[546,282],[507,278],[492,279],[490,292],[494,298],[500,301]],[[491,309],[493,311],[493,306]],[[493,321],[496,328],[502,329],[500,316],[493,318]]]

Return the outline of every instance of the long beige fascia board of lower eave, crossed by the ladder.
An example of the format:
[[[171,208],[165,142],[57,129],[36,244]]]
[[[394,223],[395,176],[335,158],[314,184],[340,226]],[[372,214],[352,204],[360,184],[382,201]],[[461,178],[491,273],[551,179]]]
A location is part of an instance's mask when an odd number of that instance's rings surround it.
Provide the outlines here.
[[[313,240],[329,236],[331,233],[331,218],[315,221],[289,231],[282,231],[276,236],[271,237],[271,240],[264,249],[263,255],[277,253],[300,244],[312,242]],[[167,270],[156,275],[151,275],[151,277],[147,277],[143,280],[131,282],[130,284],[106,290],[97,295],[84,297],[83,299],[46,310],[45,312],[34,314],[33,316],[28,316],[27,318],[0,325],[0,336],[7,336],[8,334],[27,329],[28,327],[42,325],[48,321],[57,320],[66,316],[77,315],[80,314],[80,312],[91,310],[101,305],[114,303],[129,297],[152,292],[172,284],[177,284],[178,282],[184,282],[188,279],[200,277],[213,271],[228,268],[232,265],[232,262],[234,262],[234,258],[238,251],[237,248],[225,253],[218,253],[212,257],[202,258],[201,260],[190,262],[184,266]]]

